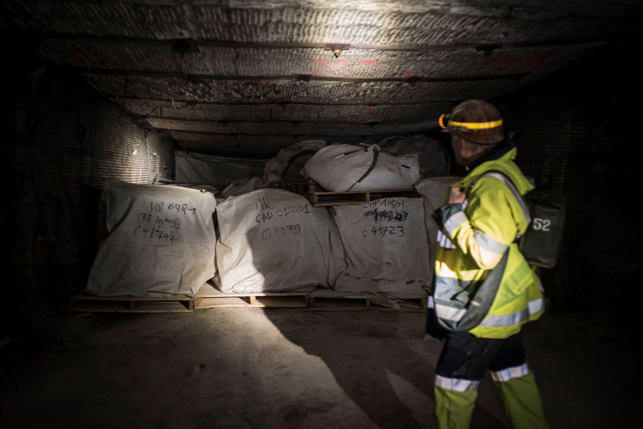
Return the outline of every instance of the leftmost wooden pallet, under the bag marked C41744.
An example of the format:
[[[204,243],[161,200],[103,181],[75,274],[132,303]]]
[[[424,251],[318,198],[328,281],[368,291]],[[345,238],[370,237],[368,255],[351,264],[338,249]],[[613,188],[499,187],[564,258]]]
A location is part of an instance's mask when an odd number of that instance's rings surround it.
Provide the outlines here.
[[[84,313],[190,313],[194,299],[188,297],[95,297],[77,293],[69,299],[69,311]]]

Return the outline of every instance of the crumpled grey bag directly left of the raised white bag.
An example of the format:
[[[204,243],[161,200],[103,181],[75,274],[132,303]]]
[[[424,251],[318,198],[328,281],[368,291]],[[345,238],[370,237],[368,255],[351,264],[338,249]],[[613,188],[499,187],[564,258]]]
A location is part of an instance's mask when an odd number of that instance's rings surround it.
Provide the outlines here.
[[[314,152],[326,146],[325,140],[306,140],[300,143],[289,144],[277,153],[276,157],[266,163],[264,179],[267,180],[286,180],[299,179],[299,172],[303,165],[311,159]],[[307,153],[311,152],[311,153]],[[293,158],[296,155],[302,155]],[[293,161],[291,162],[291,158]],[[289,163],[291,164],[289,166]],[[287,169],[287,171],[286,171]]]

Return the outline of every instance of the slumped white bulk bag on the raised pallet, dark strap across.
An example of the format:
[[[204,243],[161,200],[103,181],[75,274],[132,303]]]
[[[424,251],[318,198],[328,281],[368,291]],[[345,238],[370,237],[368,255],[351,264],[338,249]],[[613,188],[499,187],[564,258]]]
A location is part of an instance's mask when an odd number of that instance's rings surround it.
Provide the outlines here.
[[[303,166],[302,176],[332,192],[409,189],[421,179],[417,155],[380,152],[377,144],[321,148]]]

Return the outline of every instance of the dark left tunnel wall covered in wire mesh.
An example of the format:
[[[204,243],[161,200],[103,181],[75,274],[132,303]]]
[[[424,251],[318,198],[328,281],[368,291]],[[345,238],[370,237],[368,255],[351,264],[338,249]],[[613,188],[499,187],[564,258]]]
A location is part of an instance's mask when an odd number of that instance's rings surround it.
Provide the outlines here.
[[[71,293],[84,286],[96,249],[103,179],[174,178],[173,141],[144,130],[75,76],[35,69],[2,103],[3,162],[13,184],[3,204],[20,299],[3,355],[16,357],[55,335]]]

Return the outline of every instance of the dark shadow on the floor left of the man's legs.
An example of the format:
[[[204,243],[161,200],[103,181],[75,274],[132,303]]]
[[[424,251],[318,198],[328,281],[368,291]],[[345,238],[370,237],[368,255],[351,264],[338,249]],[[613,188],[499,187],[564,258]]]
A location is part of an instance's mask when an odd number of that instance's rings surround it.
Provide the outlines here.
[[[379,428],[426,427],[418,421],[426,410],[413,409],[392,384],[399,378],[415,398],[431,398],[431,365],[399,338],[399,315],[374,321],[381,314],[307,311],[296,323],[289,312],[265,313],[287,340],[321,358],[337,385]],[[427,399],[424,407],[430,406]]]

